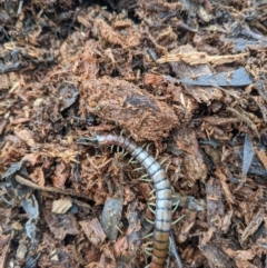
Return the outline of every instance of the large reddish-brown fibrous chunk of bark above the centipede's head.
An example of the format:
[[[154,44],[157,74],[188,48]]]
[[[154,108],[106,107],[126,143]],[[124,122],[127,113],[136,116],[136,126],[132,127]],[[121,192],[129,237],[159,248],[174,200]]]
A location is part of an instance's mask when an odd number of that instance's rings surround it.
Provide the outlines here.
[[[174,110],[125,80],[105,77],[83,83],[88,110],[127,129],[135,140],[159,140],[179,126]]]

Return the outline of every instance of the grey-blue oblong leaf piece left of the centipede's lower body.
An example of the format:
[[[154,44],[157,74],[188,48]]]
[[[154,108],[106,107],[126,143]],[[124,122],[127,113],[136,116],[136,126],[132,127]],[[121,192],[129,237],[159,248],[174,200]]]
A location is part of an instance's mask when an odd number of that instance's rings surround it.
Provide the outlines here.
[[[122,212],[122,200],[107,199],[102,210],[101,224],[103,230],[111,242],[116,241]]]

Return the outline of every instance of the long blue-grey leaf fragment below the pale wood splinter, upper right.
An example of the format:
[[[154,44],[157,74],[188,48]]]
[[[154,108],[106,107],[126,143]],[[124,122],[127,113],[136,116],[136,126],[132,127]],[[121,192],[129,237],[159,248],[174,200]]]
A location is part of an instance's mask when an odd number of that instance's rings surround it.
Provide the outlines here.
[[[196,79],[182,78],[180,82],[196,86],[241,87],[251,85],[254,81],[244,67],[231,72],[202,75]]]

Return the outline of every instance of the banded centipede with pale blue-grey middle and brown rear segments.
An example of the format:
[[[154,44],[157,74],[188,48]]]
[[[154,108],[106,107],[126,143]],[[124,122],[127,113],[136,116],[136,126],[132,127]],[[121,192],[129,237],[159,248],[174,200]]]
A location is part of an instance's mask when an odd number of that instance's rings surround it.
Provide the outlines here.
[[[130,139],[113,133],[95,135],[86,140],[99,146],[117,146],[129,152],[147,171],[156,191],[155,228],[150,268],[164,268],[168,255],[172,217],[171,188],[166,171],[160,163]]]

